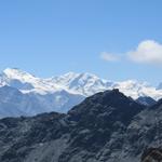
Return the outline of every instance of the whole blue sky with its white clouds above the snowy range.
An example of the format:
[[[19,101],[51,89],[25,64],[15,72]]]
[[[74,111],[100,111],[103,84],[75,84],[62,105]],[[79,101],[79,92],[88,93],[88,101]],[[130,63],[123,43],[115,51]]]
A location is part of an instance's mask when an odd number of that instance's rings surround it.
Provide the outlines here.
[[[161,0],[0,1],[0,70],[17,67],[39,77],[92,72],[158,84],[161,6]],[[158,54],[149,57],[148,46]],[[140,60],[144,50],[150,55]]]

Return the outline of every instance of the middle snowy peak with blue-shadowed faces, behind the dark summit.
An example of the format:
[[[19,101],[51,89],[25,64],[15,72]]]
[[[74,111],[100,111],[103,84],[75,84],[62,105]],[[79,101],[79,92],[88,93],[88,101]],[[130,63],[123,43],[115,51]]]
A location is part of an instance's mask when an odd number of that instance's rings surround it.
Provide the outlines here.
[[[94,93],[108,90],[108,85],[110,85],[108,81],[102,80],[97,76],[89,72],[68,72],[60,77],[52,78],[52,82],[63,85],[70,92],[84,96],[90,96]]]

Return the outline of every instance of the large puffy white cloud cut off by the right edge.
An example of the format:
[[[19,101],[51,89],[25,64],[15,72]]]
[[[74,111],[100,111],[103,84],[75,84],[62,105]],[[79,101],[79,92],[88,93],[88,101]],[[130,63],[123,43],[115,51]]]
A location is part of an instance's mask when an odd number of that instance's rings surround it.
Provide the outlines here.
[[[136,63],[162,64],[162,44],[153,40],[141,41],[127,56]]]

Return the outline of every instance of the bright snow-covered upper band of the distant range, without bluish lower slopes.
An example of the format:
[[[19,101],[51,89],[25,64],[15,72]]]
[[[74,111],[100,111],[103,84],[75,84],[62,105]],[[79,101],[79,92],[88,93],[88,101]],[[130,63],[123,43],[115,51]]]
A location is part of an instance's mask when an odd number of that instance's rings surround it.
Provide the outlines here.
[[[17,68],[6,68],[0,75],[0,85],[10,85],[23,93],[49,94],[64,90],[70,94],[87,97],[106,90],[119,89],[126,96],[135,99],[140,96],[150,96],[154,99],[162,97],[162,89],[158,90],[147,82],[136,80],[112,82],[89,72],[68,72],[58,77],[41,79]]]

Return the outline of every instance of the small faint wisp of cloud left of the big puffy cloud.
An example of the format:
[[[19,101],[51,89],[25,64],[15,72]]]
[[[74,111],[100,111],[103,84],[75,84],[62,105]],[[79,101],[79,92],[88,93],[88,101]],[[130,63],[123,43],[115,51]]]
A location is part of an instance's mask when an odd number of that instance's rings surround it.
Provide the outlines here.
[[[114,54],[107,53],[107,52],[102,52],[100,53],[100,58],[107,62],[117,62],[119,60],[119,57]]]

